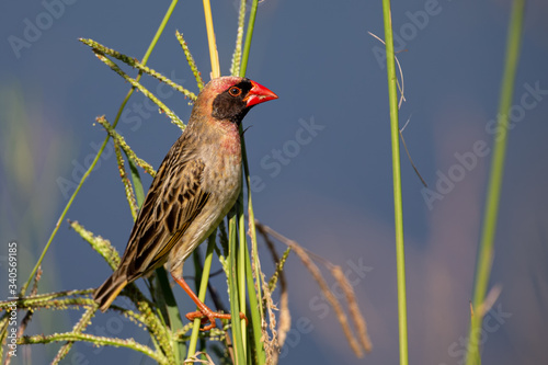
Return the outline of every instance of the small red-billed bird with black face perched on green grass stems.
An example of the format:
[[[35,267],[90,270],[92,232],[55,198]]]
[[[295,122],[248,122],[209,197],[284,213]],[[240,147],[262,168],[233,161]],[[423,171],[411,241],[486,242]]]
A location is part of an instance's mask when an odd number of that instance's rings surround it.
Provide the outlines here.
[[[93,293],[101,311],[109,309],[127,284],[167,265],[198,308],[186,315],[189,320],[209,321],[201,329],[205,331],[216,327],[216,318],[230,318],[198,299],[183,280],[183,263],[215,231],[238,198],[243,117],[253,106],[277,98],[258,82],[240,77],[216,78],[202,89],[186,128],[150,185],[118,267]]]

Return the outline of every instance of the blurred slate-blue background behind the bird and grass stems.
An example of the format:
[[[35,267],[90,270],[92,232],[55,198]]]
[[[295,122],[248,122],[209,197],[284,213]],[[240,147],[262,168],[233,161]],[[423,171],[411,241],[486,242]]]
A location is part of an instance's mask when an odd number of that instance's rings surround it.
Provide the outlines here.
[[[105,137],[94,118],[106,115],[113,122],[129,88],[77,39],[92,38],[140,58],[169,5],[59,3],[0,3],[0,277],[7,277],[7,242],[18,240],[20,285]],[[238,3],[213,2],[222,75],[229,73]],[[411,118],[406,141],[431,189],[422,189],[402,152],[413,364],[464,360],[510,8],[509,0],[392,3],[406,80],[400,121],[403,125]],[[483,327],[486,363],[548,363],[547,18],[546,1],[528,1],[491,277],[491,286],[500,284],[502,294]],[[201,1],[180,1],[148,62],[196,91],[175,30],[184,34],[208,80]],[[349,273],[374,344],[365,358],[354,357],[318,286],[292,256],[286,267],[293,323],[311,324],[289,332],[283,364],[398,362],[386,69],[381,45],[367,32],[384,37],[380,1],[264,0],[259,5],[248,77],[279,100],[256,107],[244,121],[252,126],[246,134],[251,173],[261,182],[253,194],[255,215]],[[187,100],[156,80],[144,80],[187,119]],[[158,167],[180,130],[147,105],[135,93],[117,129],[139,157]],[[67,217],[123,251],[133,220],[109,150]],[[41,292],[96,287],[111,270],[66,221],[60,225],[43,265]],[[191,275],[192,262],[185,267]],[[2,281],[1,297],[5,287]],[[192,307],[181,293],[178,300]],[[43,310],[27,332],[67,331],[79,315]],[[115,315],[98,316],[89,331],[148,339]],[[46,364],[56,349],[20,347],[12,363]],[[121,362],[151,364],[128,350],[85,344],[77,344],[64,361]]]

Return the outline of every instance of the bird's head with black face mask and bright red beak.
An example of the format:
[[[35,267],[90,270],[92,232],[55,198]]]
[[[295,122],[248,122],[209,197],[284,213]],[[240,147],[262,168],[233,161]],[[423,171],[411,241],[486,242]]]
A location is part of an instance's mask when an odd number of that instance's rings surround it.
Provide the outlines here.
[[[240,124],[252,106],[273,99],[275,93],[250,79],[221,77],[204,87],[195,106],[210,111],[215,119]]]

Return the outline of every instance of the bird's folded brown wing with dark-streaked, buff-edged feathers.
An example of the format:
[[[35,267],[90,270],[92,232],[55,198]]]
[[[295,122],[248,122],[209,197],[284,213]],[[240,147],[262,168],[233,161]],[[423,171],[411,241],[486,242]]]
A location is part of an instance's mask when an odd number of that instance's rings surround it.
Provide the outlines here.
[[[129,281],[162,264],[209,198],[205,163],[175,142],[165,157],[135,221],[121,267]]]

